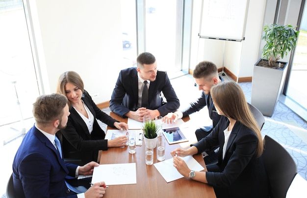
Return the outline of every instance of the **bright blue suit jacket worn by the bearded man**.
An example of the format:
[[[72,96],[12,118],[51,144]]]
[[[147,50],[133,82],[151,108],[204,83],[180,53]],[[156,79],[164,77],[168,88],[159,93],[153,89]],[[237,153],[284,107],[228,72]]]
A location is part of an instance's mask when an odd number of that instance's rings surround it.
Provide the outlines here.
[[[13,161],[17,198],[77,198],[68,193],[65,178],[75,177],[77,165],[64,163],[49,139],[33,126],[24,137]]]

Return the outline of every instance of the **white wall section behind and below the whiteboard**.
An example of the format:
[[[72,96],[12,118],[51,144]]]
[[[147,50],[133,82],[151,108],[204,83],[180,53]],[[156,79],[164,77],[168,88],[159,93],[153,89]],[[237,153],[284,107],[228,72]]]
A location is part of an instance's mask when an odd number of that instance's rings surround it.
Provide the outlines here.
[[[225,41],[224,66],[237,77],[251,77],[256,63],[261,40],[262,22],[266,0],[249,0],[245,40]],[[191,38],[191,69],[202,60],[214,62],[218,68],[223,66],[224,41],[199,38],[201,0],[193,1],[193,20]],[[214,28],[214,27],[212,27]],[[241,55],[242,52],[242,55]]]

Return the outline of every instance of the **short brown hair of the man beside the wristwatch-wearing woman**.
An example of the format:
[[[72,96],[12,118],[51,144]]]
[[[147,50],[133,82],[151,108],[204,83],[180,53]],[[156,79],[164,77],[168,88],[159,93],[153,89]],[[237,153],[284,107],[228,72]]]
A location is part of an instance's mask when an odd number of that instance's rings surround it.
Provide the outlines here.
[[[200,79],[204,78],[210,80],[213,77],[218,78],[218,70],[216,65],[210,61],[202,61],[198,63],[193,71],[193,78]]]

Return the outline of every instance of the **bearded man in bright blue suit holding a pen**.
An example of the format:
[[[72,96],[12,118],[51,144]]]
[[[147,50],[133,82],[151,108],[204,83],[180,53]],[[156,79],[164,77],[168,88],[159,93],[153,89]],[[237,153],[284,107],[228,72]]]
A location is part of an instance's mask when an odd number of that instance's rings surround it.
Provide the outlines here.
[[[67,98],[61,94],[39,96],[33,104],[35,124],[26,133],[13,162],[16,197],[100,198],[105,194],[104,182],[95,183],[87,190],[90,180],[76,179],[78,175],[93,174],[98,163],[79,167],[61,158],[55,134],[66,127],[69,114]]]

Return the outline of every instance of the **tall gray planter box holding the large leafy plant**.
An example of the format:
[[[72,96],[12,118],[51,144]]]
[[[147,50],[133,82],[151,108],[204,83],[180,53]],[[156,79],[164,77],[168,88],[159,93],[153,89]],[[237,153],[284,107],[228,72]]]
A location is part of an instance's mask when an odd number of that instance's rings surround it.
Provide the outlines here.
[[[254,65],[251,103],[265,116],[272,116],[281,94],[288,64],[281,63],[285,64],[282,69]]]

